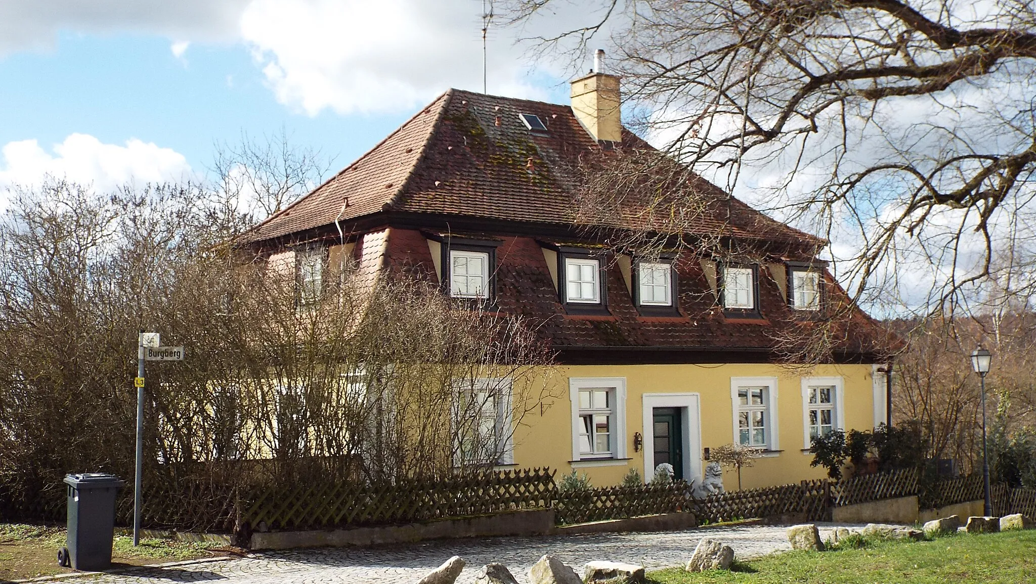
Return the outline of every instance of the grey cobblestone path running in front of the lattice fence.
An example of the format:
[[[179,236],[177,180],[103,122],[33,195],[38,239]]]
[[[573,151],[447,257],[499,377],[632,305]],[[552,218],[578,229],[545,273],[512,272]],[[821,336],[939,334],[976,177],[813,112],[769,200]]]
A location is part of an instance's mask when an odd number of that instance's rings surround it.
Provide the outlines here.
[[[833,524],[822,525],[824,538]],[[739,558],[789,550],[785,527],[715,527],[654,533],[600,533],[544,537],[493,537],[428,542],[375,548],[320,548],[257,554],[248,558],[190,563],[165,567],[141,567],[114,575],[77,579],[84,584],[409,584],[453,555],[467,567],[458,579],[467,584],[486,563],[507,565],[520,582],[527,582],[528,568],[543,554],[554,554],[581,572],[589,560],[640,563],[649,570],[679,565],[690,557],[704,536],[724,541]],[[70,584],[70,582],[69,582]]]

